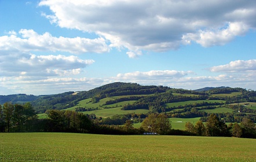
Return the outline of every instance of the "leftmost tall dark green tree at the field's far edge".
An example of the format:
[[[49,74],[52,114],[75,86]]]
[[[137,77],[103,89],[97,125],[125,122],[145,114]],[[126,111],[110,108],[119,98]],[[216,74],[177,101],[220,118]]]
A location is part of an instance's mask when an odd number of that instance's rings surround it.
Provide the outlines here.
[[[5,122],[7,124],[8,132],[10,132],[13,111],[14,111],[14,106],[12,103],[5,102],[5,104],[3,104],[3,116],[5,116]]]

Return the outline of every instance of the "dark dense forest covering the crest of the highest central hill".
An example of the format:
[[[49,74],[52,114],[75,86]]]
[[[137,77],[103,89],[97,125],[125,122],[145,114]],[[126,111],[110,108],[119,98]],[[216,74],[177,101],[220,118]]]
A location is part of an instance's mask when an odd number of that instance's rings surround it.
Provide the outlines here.
[[[169,90],[164,86],[141,86],[137,83],[110,83],[97,87],[89,91],[67,92],[54,95],[46,95],[32,101],[37,112],[45,112],[47,109],[66,109],[78,104],[79,101],[92,98],[92,102],[97,102],[101,98],[117,95],[136,95],[164,93]]]

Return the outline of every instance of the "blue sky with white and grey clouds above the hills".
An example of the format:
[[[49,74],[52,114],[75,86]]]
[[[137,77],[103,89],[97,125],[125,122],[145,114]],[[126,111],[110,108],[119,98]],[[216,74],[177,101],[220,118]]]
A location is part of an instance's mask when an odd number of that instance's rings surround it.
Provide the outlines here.
[[[256,90],[255,29],[255,0],[0,0],[0,95]]]

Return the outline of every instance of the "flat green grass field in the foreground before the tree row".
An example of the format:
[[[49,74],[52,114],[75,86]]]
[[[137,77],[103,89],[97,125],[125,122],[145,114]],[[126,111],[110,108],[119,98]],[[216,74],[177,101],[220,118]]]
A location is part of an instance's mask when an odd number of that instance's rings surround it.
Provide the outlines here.
[[[256,139],[2,133],[0,161],[254,161]]]

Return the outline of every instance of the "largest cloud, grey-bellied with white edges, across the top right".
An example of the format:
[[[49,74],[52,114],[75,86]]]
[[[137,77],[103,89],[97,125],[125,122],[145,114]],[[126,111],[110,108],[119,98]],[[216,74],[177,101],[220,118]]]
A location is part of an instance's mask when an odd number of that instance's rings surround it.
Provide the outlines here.
[[[53,14],[44,14],[63,28],[94,32],[111,47],[167,51],[193,42],[224,45],[256,27],[256,1],[57,1],[43,0]]]

